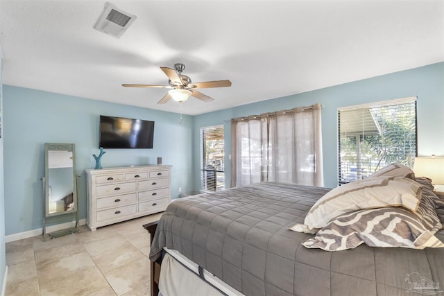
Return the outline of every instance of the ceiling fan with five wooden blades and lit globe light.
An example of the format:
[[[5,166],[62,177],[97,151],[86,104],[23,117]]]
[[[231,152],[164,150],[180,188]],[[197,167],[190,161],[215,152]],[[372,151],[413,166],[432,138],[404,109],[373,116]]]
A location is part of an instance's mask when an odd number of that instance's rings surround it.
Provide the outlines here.
[[[211,87],[230,87],[230,80],[216,80],[216,81],[205,81],[205,82],[191,82],[191,78],[186,75],[182,75],[182,71],[185,69],[185,64],[174,64],[174,69],[168,67],[160,67],[162,71],[169,78],[169,85],[128,85],[123,84],[123,87],[162,87],[171,89],[168,94],[166,94],[157,104],[164,104],[173,98],[177,102],[185,102],[190,96],[194,96],[201,101],[211,102],[214,98],[202,94],[196,91],[196,89],[211,88]]]

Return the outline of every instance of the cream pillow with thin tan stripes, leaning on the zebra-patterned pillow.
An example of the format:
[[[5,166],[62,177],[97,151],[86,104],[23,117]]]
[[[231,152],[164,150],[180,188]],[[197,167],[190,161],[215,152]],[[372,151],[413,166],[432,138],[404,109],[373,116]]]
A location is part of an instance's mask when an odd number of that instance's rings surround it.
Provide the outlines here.
[[[404,207],[418,209],[422,186],[407,177],[370,177],[332,189],[311,207],[304,224],[291,230],[316,233],[330,220],[359,209]]]

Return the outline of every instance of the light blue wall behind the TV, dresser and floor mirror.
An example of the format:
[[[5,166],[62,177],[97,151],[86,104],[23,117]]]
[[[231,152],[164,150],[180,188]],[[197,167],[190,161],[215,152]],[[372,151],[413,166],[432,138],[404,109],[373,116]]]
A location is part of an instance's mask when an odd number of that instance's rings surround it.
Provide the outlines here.
[[[171,164],[171,196],[192,191],[193,117],[86,98],[3,86],[6,235],[42,227],[44,143],[75,143],[80,219],[86,218],[85,168],[99,153],[99,115],[155,121],[153,149],[105,149],[102,166]],[[0,217],[1,218],[1,217]],[[58,221],[57,221],[58,222]]]

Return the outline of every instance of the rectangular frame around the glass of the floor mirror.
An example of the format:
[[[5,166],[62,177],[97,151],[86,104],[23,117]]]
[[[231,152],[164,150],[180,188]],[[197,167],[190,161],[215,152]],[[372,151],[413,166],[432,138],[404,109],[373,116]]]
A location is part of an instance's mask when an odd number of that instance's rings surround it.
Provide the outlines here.
[[[74,143],[45,143],[45,182],[44,182],[44,214],[45,217],[77,213],[77,178],[76,178],[76,145]],[[74,208],[69,211],[49,212],[49,151],[72,151],[72,184]]]

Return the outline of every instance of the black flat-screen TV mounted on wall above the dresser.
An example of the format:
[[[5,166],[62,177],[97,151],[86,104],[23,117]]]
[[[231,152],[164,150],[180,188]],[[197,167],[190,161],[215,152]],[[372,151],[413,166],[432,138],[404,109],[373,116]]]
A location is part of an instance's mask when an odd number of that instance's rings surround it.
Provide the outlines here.
[[[153,148],[154,121],[100,116],[99,147]]]

